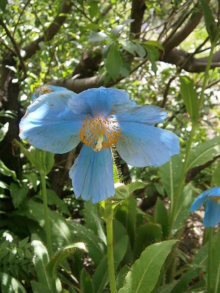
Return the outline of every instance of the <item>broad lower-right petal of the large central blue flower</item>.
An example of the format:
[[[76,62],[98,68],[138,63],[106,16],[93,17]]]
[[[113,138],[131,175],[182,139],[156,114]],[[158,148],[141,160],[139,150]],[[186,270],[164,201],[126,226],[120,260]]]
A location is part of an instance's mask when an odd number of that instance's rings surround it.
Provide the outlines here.
[[[179,153],[179,139],[169,130],[134,122],[119,121],[119,126],[121,137],[116,148],[131,166],[161,166]]]

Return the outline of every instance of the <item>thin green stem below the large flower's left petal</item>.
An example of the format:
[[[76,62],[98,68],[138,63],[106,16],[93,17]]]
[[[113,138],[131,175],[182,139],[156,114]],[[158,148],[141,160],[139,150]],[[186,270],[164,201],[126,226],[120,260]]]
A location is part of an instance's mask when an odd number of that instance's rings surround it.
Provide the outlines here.
[[[49,213],[47,208],[47,197],[46,197],[46,180],[44,173],[41,175],[41,185],[42,185],[42,197],[44,204],[44,220],[45,220],[45,230],[46,230],[46,246],[49,257],[52,256],[52,244],[51,244],[51,235],[50,235],[50,223],[49,223]]]

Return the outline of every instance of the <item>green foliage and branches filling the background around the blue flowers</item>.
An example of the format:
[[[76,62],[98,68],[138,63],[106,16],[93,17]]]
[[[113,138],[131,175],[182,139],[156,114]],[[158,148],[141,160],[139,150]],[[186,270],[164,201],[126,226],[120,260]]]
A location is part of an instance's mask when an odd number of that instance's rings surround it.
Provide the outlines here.
[[[80,146],[67,154],[46,156],[52,247],[54,253],[62,248],[62,254],[56,252],[53,262],[49,261],[44,245],[41,153],[24,142],[19,147],[14,139],[19,139],[18,124],[33,91],[46,83],[76,93],[100,85],[115,86],[127,90],[138,104],[154,104],[168,111],[167,121],[158,126],[179,136],[180,155],[159,168],[130,167],[116,158],[121,181],[126,183],[126,191],[117,192],[130,194],[117,208],[113,223],[117,289],[120,293],[137,288],[136,292],[144,293],[204,292],[203,211],[192,219],[189,207],[198,193],[220,185],[219,40],[200,111],[198,100],[219,18],[220,3],[215,0],[0,1],[3,293],[54,292],[51,278],[56,279],[57,292],[109,292],[105,225],[91,202],[74,198],[68,179]],[[184,154],[195,124],[171,227]],[[133,181],[145,182],[147,187]],[[220,233],[214,243],[218,264]],[[146,268],[156,261],[158,251],[157,269]],[[213,266],[217,288],[213,292],[220,286],[218,269]]]

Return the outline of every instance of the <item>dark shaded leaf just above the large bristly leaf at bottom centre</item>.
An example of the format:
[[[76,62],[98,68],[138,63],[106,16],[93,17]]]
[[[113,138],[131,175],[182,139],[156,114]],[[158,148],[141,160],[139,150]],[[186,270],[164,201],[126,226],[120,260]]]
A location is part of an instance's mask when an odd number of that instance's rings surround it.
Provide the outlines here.
[[[148,223],[144,226],[138,227],[134,242],[134,254],[136,258],[140,256],[141,252],[145,250],[147,246],[160,241],[162,236],[160,225]]]

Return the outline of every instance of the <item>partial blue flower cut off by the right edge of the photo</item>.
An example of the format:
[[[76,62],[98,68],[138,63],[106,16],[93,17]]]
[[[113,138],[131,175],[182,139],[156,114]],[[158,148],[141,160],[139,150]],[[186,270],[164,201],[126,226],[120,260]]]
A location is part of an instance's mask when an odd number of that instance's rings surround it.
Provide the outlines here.
[[[202,192],[192,204],[190,211],[193,212],[206,202],[203,224],[205,227],[215,227],[220,220],[220,187],[210,188]]]

